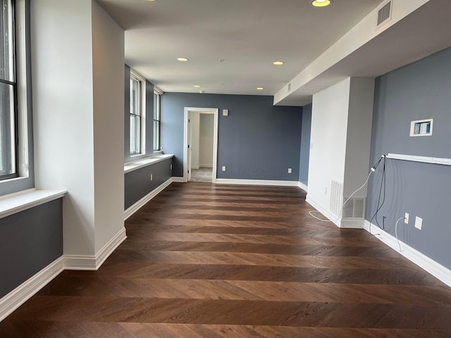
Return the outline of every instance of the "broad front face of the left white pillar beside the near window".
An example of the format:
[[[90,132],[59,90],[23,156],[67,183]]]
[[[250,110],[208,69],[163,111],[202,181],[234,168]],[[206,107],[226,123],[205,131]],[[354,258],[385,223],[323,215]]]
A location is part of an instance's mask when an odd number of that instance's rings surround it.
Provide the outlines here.
[[[94,254],[91,23],[91,1],[31,1],[35,185],[68,190],[66,254]]]

